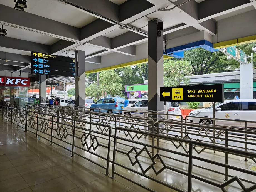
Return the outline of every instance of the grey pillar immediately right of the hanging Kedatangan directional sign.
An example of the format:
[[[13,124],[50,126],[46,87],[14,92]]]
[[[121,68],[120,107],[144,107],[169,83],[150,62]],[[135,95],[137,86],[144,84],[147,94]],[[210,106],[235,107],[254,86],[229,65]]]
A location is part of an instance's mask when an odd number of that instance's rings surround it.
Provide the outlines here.
[[[85,106],[85,52],[75,51],[76,78],[75,78],[75,104]]]

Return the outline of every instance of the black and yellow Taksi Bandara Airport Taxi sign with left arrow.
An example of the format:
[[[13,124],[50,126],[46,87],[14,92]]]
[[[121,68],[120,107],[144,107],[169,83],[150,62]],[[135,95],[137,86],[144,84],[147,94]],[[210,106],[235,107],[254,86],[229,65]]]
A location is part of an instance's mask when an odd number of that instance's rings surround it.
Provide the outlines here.
[[[160,87],[160,101],[224,102],[224,85]]]

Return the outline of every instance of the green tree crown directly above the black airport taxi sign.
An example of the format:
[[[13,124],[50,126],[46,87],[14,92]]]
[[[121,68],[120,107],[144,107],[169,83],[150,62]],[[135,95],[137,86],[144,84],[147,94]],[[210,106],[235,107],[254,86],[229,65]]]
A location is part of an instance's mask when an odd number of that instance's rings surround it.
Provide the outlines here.
[[[181,82],[189,84],[190,79],[186,76],[192,70],[191,63],[185,60],[168,60],[164,62],[164,86],[176,87]]]

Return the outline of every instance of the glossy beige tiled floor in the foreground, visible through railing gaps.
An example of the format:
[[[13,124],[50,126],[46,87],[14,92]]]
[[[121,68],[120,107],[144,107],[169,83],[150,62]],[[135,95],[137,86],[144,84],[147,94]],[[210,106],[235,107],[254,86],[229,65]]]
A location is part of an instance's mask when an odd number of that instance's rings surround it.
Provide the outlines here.
[[[142,140],[144,138],[142,137]],[[145,142],[149,142],[144,139]],[[99,142],[106,142],[101,139]],[[150,141],[151,142],[151,141]],[[62,143],[63,144],[63,143]],[[122,144],[119,145],[120,147]],[[134,145],[135,146],[135,145]],[[167,146],[167,148],[173,149],[173,145],[170,143],[160,143],[160,146]],[[70,147],[67,145],[67,147]],[[124,146],[123,149],[126,149]],[[176,149],[181,151],[181,149]],[[78,152],[79,149],[76,149]],[[91,153],[80,150],[80,154],[99,163],[102,166],[106,166],[106,161]],[[179,156],[176,154],[169,154],[167,152],[159,151],[160,154],[164,154],[168,157],[172,157],[177,160],[188,162],[188,158]],[[106,150],[104,147],[97,149],[97,154],[106,156]],[[112,155],[112,154],[111,154]],[[207,152],[204,151],[200,154],[200,157],[211,159],[225,163],[225,157],[220,152]],[[242,168],[250,169],[256,164],[250,159],[244,161],[242,157],[229,156],[230,164],[239,166]],[[131,154],[132,160],[134,156]],[[146,169],[152,162],[146,156],[146,152],[138,157],[142,168]],[[163,164],[158,159],[154,168],[157,170],[163,167]],[[175,161],[163,157],[163,160],[167,166],[171,168],[179,169],[181,171],[188,171],[188,164]],[[116,161],[124,166],[127,166],[134,171],[141,172],[141,168],[138,164],[132,166],[128,157],[124,154],[117,153]],[[200,165],[204,168],[220,171],[224,173],[225,170],[220,166],[216,166],[209,163],[200,161],[193,161],[193,164]],[[112,171],[112,164],[110,163],[110,173]],[[157,192],[172,192],[174,189],[168,188],[155,181],[152,181],[144,176],[136,174],[128,169],[124,169],[120,166],[116,166],[115,171],[138,182],[144,186],[151,188]],[[200,176],[201,178],[215,181],[219,184],[223,183],[224,176],[217,174],[202,168],[193,167],[193,174]],[[237,175],[244,179],[250,179],[256,181],[255,178],[250,178],[248,174],[240,173],[238,171],[230,170],[229,174]],[[147,176],[158,179],[167,184],[187,190],[188,177],[165,169],[162,173],[156,175],[153,169],[149,169],[146,173]],[[18,129],[16,125],[0,121],[0,191],[3,192],[144,192],[145,189],[140,186],[131,183],[130,181],[117,176],[114,179],[105,175],[105,169],[102,167],[83,159],[82,157],[75,155],[71,157],[71,153],[58,145],[49,145],[49,142],[42,138],[36,138],[34,134],[29,132],[25,133],[23,129]],[[245,183],[244,183],[245,184]],[[192,181],[193,191],[197,192],[218,192],[220,188],[203,183],[198,180]],[[252,186],[252,184],[245,184],[246,187]],[[232,183],[225,188],[228,192],[241,191],[241,187],[237,183]]]

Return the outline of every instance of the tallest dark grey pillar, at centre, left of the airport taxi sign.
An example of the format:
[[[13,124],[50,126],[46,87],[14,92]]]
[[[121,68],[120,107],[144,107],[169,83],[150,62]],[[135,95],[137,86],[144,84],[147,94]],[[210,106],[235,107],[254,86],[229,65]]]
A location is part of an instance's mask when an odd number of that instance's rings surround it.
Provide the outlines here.
[[[164,86],[163,31],[157,36],[159,19],[148,22],[148,110],[164,110],[160,102],[160,87]]]

